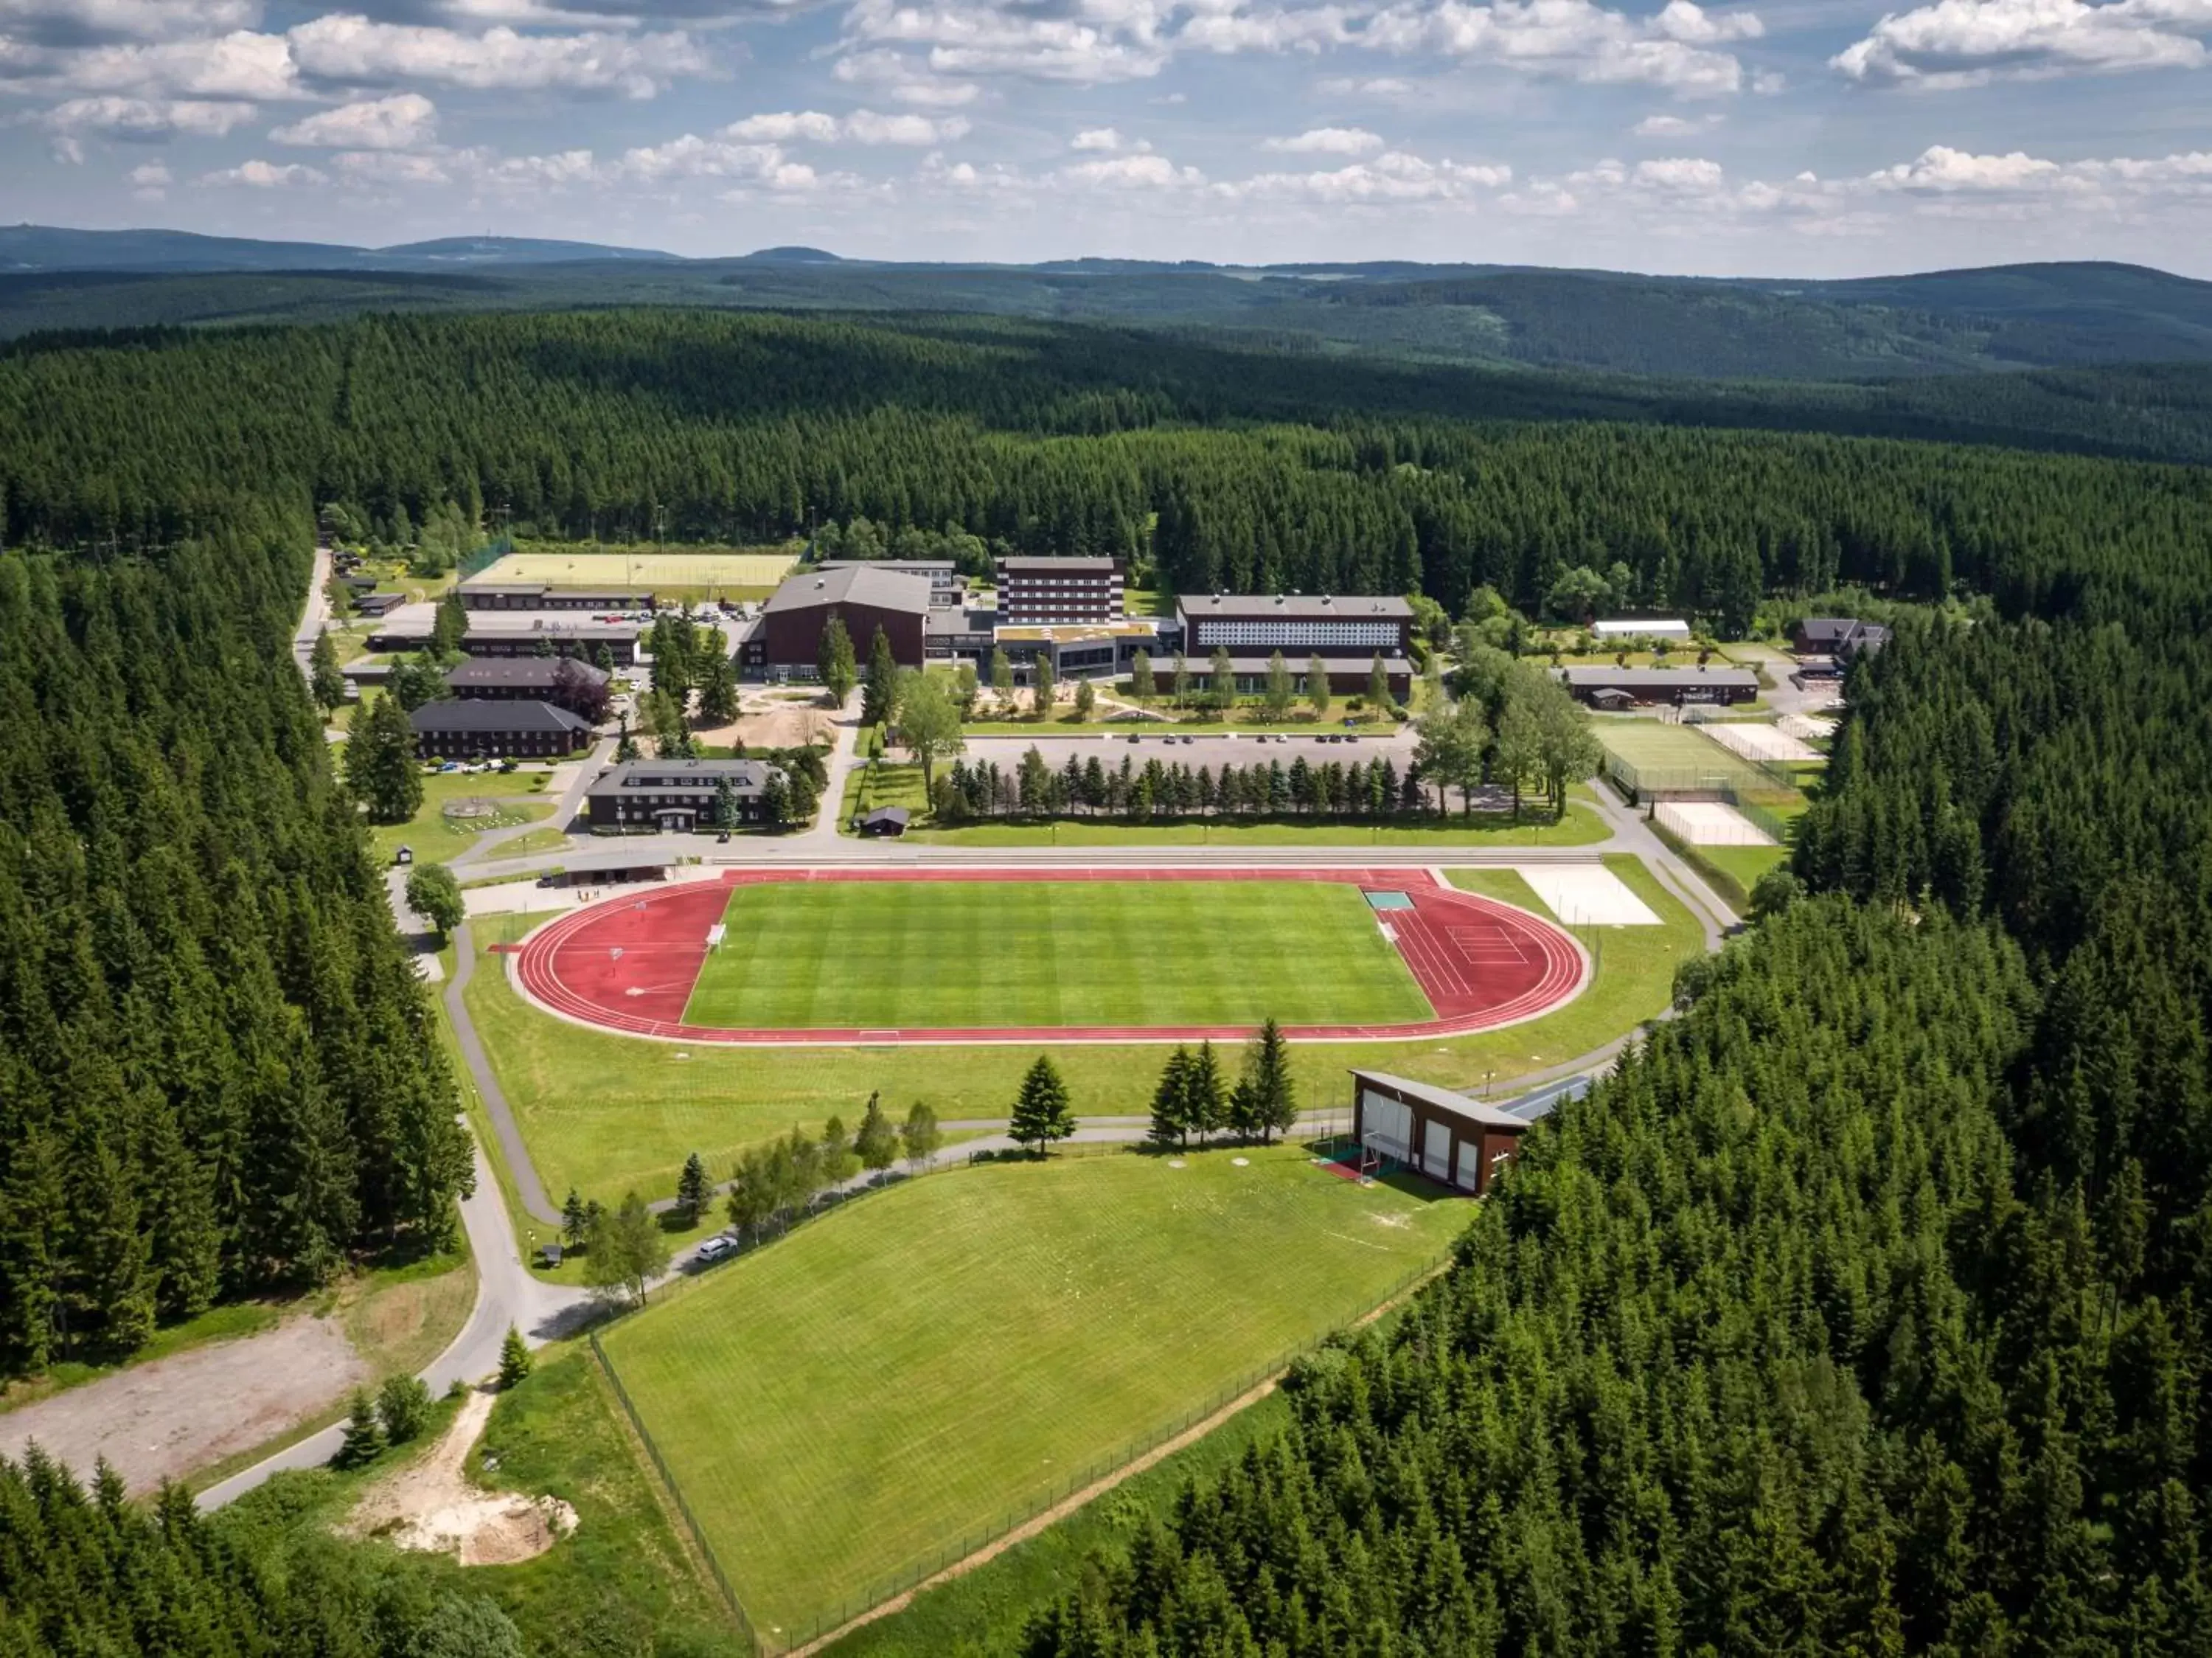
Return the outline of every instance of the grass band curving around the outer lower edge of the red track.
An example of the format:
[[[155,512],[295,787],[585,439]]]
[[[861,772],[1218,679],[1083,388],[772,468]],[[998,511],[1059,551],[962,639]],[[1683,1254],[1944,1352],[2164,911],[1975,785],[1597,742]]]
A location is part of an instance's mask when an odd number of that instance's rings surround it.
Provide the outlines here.
[[[1376,1065],[1447,1087],[1475,1087],[1559,1065],[1619,1036],[1668,1005],[1674,967],[1701,947],[1697,923],[1632,857],[1608,857],[1635,892],[1666,919],[1663,928],[1606,928],[1597,941],[1597,981],[1566,1007],[1486,1036],[1449,1043],[1301,1043],[1292,1049],[1307,1107],[1340,1107],[1345,1067]],[[1509,897],[1542,905],[1509,870],[1471,870],[1462,881],[1511,881]],[[478,947],[520,939],[522,916],[482,916]],[[699,1151],[726,1175],[739,1147],[783,1133],[794,1122],[816,1129],[832,1111],[847,1127],[867,1096],[883,1089],[885,1107],[905,1116],[927,1100],[940,1118],[1004,1118],[1026,1047],[677,1047],[611,1036],[531,1009],[507,985],[504,961],[484,956],[467,992],[469,1014],[522,1120],[546,1189],[571,1184],[608,1202],[628,1186],[648,1195],[675,1191],[684,1156]],[[1060,1074],[1077,1113],[1141,1113],[1166,1049],[1157,1045],[1062,1047]],[[1234,1056],[1230,1056],[1234,1058]]]

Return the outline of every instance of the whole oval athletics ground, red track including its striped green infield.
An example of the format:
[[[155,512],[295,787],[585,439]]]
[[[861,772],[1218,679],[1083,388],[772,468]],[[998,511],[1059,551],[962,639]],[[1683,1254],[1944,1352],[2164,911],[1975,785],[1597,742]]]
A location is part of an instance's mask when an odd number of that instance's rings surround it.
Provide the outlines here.
[[[1356,1043],[1515,1025],[1590,970],[1551,921],[1402,868],[717,874],[549,921],[511,983],[684,1043],[1230,1043],[1267,1016]]]

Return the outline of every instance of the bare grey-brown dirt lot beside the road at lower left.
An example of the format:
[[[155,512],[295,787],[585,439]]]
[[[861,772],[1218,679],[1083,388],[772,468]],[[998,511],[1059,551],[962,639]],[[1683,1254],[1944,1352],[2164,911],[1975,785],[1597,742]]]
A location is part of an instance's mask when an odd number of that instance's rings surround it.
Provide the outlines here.
[[[133,1492],[268,1443],[367,1381],[338,1319],[296,1317],[119,1370],[0,1417],[0,1457],[29,1441],[80,1474],[106,1457]]]

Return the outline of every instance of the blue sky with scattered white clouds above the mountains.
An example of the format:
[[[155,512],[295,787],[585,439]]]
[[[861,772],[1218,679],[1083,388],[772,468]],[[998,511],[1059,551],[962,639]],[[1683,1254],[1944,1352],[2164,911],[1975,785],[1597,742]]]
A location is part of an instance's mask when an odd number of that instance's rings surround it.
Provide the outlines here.
[[[2212,0],[0,0],[0,217],[2212,277]]]

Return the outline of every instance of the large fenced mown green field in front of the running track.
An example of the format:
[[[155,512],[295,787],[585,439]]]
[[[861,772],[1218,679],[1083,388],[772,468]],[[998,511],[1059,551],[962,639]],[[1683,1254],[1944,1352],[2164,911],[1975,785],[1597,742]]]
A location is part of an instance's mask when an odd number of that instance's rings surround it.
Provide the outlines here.
[[[1183,1162],[929,1175],[606,1330],[772,1647],[1250,1386],[1433,1262],[1471,1215],[1433,1186],[1340,1180],[1303,1147]]]

